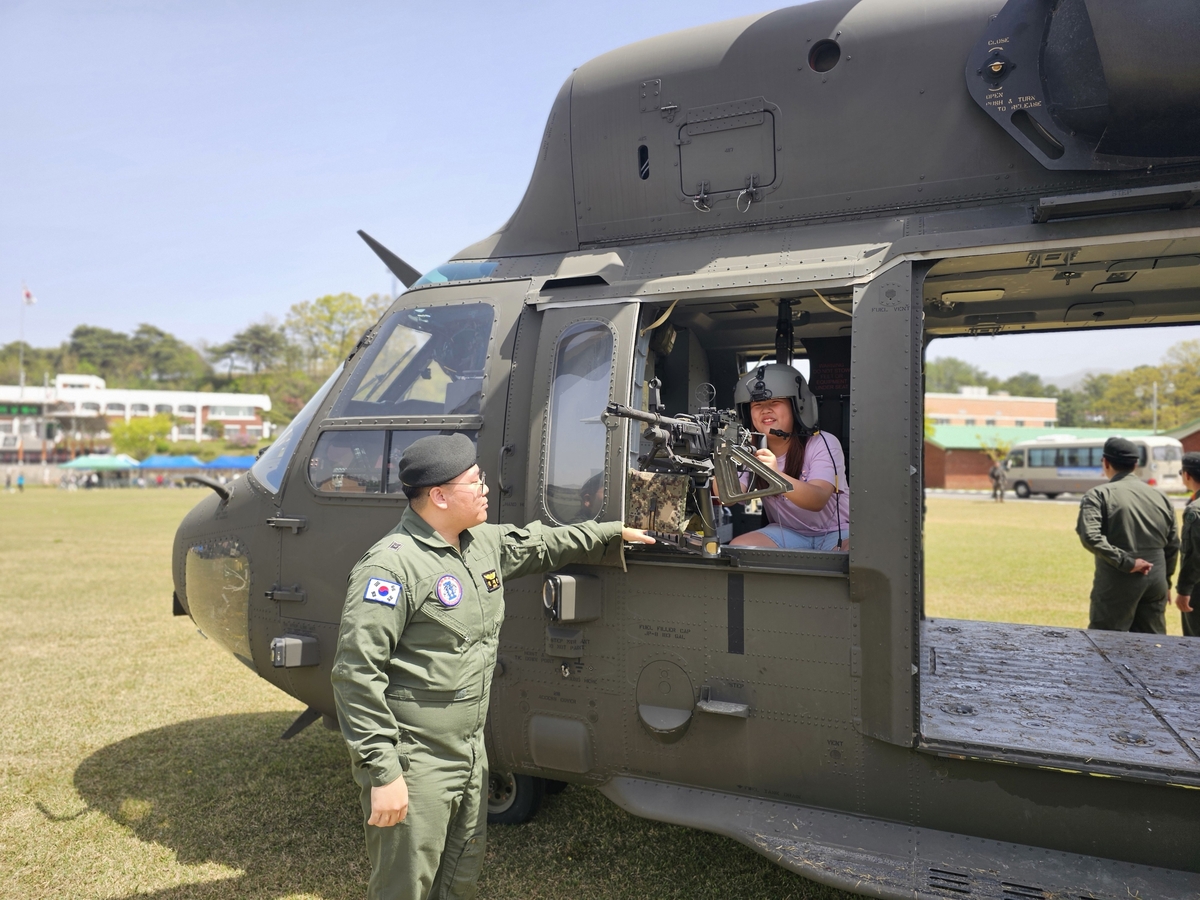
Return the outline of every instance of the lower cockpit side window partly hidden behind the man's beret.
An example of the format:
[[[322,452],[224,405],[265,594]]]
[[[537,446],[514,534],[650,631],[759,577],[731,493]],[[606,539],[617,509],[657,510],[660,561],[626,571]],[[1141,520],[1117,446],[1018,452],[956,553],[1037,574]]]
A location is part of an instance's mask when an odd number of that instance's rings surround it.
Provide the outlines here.
[[[451,430],[322,432],[308,460],[308,484],[320,493],[398,494],[400,457],[414,440],[432,434],[450,434]],[[464,431],[472,440],[475,432]]]

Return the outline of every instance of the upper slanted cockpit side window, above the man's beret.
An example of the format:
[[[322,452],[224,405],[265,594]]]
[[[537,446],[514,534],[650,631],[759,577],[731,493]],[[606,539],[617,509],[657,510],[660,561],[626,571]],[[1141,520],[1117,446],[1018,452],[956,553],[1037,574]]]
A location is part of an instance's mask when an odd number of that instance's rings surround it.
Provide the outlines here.
[[[331,415],[479,413],[493,320],[488,304],[400,310],[362,354]]]

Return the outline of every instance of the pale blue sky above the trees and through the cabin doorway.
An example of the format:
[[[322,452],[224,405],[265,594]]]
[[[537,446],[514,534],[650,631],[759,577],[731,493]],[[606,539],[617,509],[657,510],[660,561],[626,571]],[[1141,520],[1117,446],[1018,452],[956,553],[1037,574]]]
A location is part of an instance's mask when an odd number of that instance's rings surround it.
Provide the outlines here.
[[[217,342],[300,300],[388,292],[355,230],[422,271],[490,234],[572,68],[770,7],[4,0],[0,343],[17,340],[23,281],[35,346],[80,323]],[[976,338],[931,354],[1055,376],[1157,362],[1196,336]]]

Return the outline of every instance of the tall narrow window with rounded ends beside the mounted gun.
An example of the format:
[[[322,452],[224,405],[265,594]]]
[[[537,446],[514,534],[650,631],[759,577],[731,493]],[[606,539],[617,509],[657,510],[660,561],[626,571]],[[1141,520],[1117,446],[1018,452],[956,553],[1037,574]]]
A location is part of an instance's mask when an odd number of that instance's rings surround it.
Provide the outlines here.
[[[546,440],[546,511],[562,524],[596,518],[604,508],[608,431],[600,415],[612,382],[612,329],[578,322],[554,354]]]

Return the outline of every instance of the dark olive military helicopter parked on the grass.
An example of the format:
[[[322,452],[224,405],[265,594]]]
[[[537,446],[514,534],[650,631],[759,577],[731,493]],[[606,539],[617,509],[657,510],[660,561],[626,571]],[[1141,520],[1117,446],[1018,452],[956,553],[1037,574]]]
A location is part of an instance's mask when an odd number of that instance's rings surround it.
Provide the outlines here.
[[[492,821],[575,782],[871,896],[1200,895],[1200,644],[930,618],[923,571],[931,340],[1200,322],[1196,12],[814,0],[578,67],[494,234],[421,274],[360,233],[407,290],[182,521],[175,613],[307,704],[286,737],[336,726],[413,440],[475,440],[491,521],[628,521],[671,474],[610,404],[804,360],[848,551],[731,546],[761,515],[692,492],[679,546],[508,584]]]

